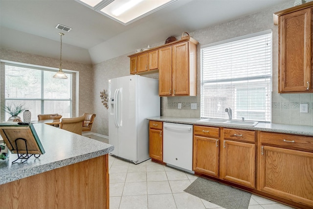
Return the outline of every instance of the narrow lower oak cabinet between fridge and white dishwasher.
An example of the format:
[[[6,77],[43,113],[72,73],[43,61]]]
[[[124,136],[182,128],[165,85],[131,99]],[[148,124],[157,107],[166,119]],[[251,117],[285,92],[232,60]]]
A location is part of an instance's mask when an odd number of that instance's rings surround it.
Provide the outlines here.
[[[149,156],[157,161],[163,161],[163,123],[149,122]]]

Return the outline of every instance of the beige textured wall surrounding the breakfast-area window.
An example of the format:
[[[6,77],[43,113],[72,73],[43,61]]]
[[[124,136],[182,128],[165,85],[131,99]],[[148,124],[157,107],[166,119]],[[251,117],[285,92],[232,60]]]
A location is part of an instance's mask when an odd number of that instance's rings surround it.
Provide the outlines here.
[[[39,66],[46,66],[51,68],[59,68],[60,60],[34,55],[34,54],[28,54],[20,51],[0,48],[0,59],[1,60],[8,60],[8,61],[14,61],[14,62],[20,62],[20,63],[27,63],[32,65],[39,65]],[[93,112],[93,102],[92,102],[92,91],[93,91],[93,70],[91,65],[85,65],[81,63],[74,63],[74,62],[68,62],[62,60],[62,69],[66,70],[75,70],[79,71],[79,94],[78,94],[78,100],[79,103],[74,104],[78,109],[78,113],[73,111],[73,116],[81,116],[84,113],[92,113]],[[3,64],[1,64],[1,81],[2,81],[2,71],[3,70]],[[3,84],[3,81],[0,82]],[[77,92],[77,89],[73,89],[73,97],[75,96],[75,92]],[[3,101],[2,98],[4,98],[4,95],[1,94],[1,102]],[[3,105],[3,104],[2,104]],[[3,120],[1,114],[1,121]]]

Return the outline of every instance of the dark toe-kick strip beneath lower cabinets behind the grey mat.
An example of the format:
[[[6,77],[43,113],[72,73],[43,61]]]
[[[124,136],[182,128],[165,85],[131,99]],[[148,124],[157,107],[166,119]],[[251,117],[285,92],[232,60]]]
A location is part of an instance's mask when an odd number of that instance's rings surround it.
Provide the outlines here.
[[[210,179],[210,180],[213,180],[213,181],[216,181],[216,182],[220,182],[220,183],[223,183],[223,184],[225,184],[225,185],[233,186],[233,187],[236,187],[236,188],[245,190],[245,191],[247,191],[247,192],[250,192],[250,193],[252,193],[252,194],[256,194],[256,195],[259,195],[259,196],[266,197],[266,198],[268,198],[268,199],[271,199],[271,200],[277,201],[277,202],[279,202],[279,203],[282,203],[282,204],[291,206],[291,207],[293,207],[293,208],[298,208],[298,209],[312,209],[312,208],[313,208],[313,206],[307,206],[307,205],[295,203],[295,202],[290,201],[290,200],[288,200],[288,199],[276,197],[276,196],[274,196],[274,195],[270,195],[270,194],[268,194],[268,193],[265,193],[265,192],[262,192],[262,191],[258,191],[258,190],[256,190],[256,189],[248,188],[248,187],[246,187],[246,186],[236,185],[236,184],[233,184],[233,183],[224,181],[224,180],[219,179],[219,178],[215,178],[215,177],[212,177],[212,176],[208,176],[208,175],[202,174],[202,173],[197,172],[197,171],[195,171],[195,175],[196,175],[196,176],[203,177],[203,178],[206,178],[206,179]]]

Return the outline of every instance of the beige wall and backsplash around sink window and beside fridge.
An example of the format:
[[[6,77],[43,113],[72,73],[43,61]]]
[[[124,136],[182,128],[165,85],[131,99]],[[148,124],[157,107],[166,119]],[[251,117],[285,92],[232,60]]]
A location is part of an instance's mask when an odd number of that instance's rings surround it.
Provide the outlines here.
[[[189,33],[199,41],[198,45],[198,69],[197,69],[197,96],[183,97],[162,97],[162,116],[200,117],[200,48],[202,45],[215,43],[231,39],[246,34],[256,33],[272,29],[273,33],[273,92],[272,92],[272,122],[286,124],[313,125],[313,94],[278,94],[278,26],[273,24],[273,13],[290,8],[294,1],[268,8],[265,11],[232,20],[226,23],[217,24],[206,29]],[[177,37],[180,38],[180,37]],[[150,44],[155,47],[163,43]],[[132,54],[131,52],[130,54]],[[108,111],[101,106],[100,91],[108,88],[108,79],[129,75],[130,60],[127,55],[123,55],[93,67],[95,93],[94,110],[98,113],[96,128],[94,132],[108,135]],[[158,73],[150,75],[158,77]],[[178,109],[177,104],[182,103],[182,108]],[[191,110],[190,103],[197,103],[198,109]],[[308,103],[309,113],[299,113],[299,104]],[[100,109],[99,109],[100,108]]]

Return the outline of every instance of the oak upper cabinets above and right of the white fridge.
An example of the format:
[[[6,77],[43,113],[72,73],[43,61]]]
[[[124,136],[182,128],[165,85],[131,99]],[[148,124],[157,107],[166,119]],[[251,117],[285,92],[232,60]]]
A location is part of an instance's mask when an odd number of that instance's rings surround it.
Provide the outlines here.
[[[131,74],[153,73],[158,70],[160,96],[196,96],[197,45],[196,40],[187,37],[130,55]],[[136,59],[136,64],[133,59]]]

